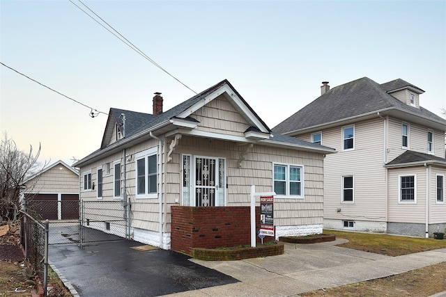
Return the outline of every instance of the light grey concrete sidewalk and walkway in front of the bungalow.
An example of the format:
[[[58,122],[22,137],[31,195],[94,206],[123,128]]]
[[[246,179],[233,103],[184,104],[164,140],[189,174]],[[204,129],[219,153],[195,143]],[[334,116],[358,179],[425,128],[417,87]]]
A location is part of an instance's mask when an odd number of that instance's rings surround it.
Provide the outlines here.
[[[446,248],[390,257],[334,246],[342,242],[344,239],[309,245],[286,243],[284,255],[241,261],[190,259],[240,282],[170,296],[298,296],[446,262]]]

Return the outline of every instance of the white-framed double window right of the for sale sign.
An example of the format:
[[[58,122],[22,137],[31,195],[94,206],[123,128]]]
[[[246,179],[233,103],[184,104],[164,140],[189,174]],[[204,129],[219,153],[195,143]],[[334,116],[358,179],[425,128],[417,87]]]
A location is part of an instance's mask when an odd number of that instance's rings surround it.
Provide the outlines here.
[[[303,166],[274,164],[273,168],[276,195],[304,198]]]

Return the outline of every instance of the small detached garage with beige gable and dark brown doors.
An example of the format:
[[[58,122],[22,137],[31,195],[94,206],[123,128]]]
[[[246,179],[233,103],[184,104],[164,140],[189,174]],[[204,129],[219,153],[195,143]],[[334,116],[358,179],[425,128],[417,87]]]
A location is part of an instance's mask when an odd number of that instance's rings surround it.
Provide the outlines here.
[[[77,219],[79,172],[59,160],[25,179],[20,195],[27,209],[43,219]]]

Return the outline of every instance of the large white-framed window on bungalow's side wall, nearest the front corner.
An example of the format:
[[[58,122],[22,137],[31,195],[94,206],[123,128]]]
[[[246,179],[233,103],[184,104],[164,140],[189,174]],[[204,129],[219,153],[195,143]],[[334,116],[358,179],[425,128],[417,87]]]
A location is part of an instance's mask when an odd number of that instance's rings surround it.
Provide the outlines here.
[[[136,155],[136,197],[157,198],[157,147]]]

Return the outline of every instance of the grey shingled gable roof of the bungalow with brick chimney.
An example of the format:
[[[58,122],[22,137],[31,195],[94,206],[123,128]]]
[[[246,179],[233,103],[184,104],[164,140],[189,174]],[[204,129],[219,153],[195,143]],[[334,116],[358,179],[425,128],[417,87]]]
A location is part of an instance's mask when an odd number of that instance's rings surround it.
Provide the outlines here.
[[[192,115],[198,109],[208,104],[213,99],[223,95],[232,106],[243,116],[250,127],[245,131],[245,138],[232,138],[232,141],[245,141],[248,142],[249,137],[252,141],[264,142],[265,145],[285,145],[290,148],[300,147],[302,150],[318,151],[323,153],[334,152],[334,149],[330,147],[324,147],[323,145],[314,145],[313,143],[307,143],[305,141],[296,142],[290,137],[290,139],[280,138],[277,136],[274,139],[274,135],[271,133],[271,129],[265,122],[257,115],[257,113],[245,102],[245,99],[240,96],[235,88],[224,79],[220,83],[211,86],[203,92],[194,95],[190,99],[181,102],[177,106],[165,111],[163,113],[152,115],[148,113],[137,113],[134,111],[126,111],[123,109],[110,109],[109,118],[107,119],[107,125],[105,128],[104,136],[102,137],[102,143],[99,150],[84,157],[84,159],[77,161],[73,166],[79,167],[83,164],[105,156],[104,154],[112,154],[123,148],[130,147],[146,139],[156,138],[157,135],[170,133],[176,129],[194,129],[197,127],[198,121],[192,118]],[[108,144],[112,137],[112,131],[116,122],[120,122],[121,113],[125,114],[125,137],[118,141]],[[134,117],[134,118],[133,118]],[[191,134],[192,135],[192,134]],[[231,136],[225,136],[231,137]],[[234,136],[235,137],[235,136]],[[270,142],[268,142],[270,138]],[[282,141],[278,140],[281,139]]]

